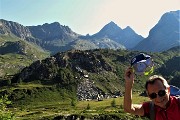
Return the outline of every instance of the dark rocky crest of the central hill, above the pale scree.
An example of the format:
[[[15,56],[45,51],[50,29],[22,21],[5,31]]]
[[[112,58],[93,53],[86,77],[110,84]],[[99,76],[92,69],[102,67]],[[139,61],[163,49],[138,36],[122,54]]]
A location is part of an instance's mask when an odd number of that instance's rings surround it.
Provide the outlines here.
[[[70,68],[70,70],[83,75],[88,72],[98,73],[113,70],[101,54],[95,54],[91,51],[75,50],[60,52],[44,60],[34,62],[22,70],[18,79],[24,81],[53,80],[59,76],[59,69],[66,68]]]

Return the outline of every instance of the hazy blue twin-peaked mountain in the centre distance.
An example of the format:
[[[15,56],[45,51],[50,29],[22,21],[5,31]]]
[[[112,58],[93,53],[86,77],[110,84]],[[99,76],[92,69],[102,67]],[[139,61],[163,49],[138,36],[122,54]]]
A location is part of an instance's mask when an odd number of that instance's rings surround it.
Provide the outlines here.
[[[117,42],[121,46],[124,46],[126,49],[133,48],[143,39],[142,36],[137,35],[129,26],[125,29],[121,29],[112,21],[105,25],[98,33],[92,36],[87,36],[87,39],[90,40],[102,38]]]

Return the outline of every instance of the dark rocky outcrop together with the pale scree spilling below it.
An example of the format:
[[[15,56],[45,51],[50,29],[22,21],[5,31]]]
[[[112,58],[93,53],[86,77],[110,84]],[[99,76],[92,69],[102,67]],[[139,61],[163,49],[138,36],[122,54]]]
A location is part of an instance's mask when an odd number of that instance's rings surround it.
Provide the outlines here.
[[[113,68],[103,55],[92,51],[68,51],[57,53],[44,60],[38,60],[22,70],[13,82],[31,82],[47,80],[60,86],[77,84],[79,100],[104,98],[105,94],[89,78],[89,74],[102,71],[112,72]],[[101,97],[101,98],[100,98]]]

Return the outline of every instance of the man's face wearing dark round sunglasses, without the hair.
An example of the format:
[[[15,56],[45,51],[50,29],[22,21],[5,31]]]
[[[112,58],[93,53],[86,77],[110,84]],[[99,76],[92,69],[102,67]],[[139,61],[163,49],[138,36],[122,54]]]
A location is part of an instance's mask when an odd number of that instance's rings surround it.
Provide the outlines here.
[[[170,95],[169,88],[165,88],[160,80],[156,80],[154,84],[148,84],[147,90],[149,97],[152,94],[154,95],[154,98],[152,99],[150,97],[150,99],[154,102],[155,105],[158,105],[162,108],[166,108],[166,104],[169,101]]]

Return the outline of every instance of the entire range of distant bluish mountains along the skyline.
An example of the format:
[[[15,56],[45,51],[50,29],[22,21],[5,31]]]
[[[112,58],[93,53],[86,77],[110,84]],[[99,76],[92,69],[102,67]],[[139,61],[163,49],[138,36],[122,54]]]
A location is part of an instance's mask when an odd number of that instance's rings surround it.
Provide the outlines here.
[[[23,26],[19,23],[0,19],[0,38],[5,35],[17,37],[30,44],[38,45],[55,54],[70,49],[128,49],[146,52],[161,52],[180,44],[180,10],[165,13],[143,38],[131,27],[121,29],[113,21],[94,35],[80,35],[68,26],[58,22],[37,26]],[[1,41],[3,44],[6,41]],[[2,47],[2,44],[1,46]]]

